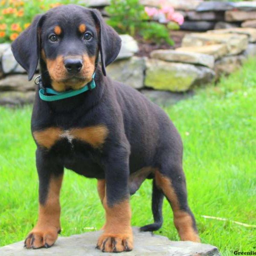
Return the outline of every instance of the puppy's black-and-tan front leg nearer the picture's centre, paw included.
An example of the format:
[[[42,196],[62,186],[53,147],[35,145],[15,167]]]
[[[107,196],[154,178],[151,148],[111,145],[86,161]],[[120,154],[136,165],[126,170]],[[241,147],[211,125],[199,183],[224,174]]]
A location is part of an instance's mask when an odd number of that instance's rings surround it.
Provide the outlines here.
[[[105,161],[106,184],[103,206],[106,224],[104,233],[97,243],[97,248],[103,252],[130,251],[133,248],[128,159],[128,152],[122,152],[121,149]]]

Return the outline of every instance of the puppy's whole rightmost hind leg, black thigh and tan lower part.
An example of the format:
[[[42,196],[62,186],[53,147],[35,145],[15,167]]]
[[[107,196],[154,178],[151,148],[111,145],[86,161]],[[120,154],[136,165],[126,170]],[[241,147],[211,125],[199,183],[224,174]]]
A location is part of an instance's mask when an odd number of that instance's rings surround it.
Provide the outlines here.
[[[187,202],[186,181],[180,164],[173,161],[164,162],[159,170],[155,171],[156,185],[161,189],[169,201],[174,224],[183,241],[200,242],[195,218]]]

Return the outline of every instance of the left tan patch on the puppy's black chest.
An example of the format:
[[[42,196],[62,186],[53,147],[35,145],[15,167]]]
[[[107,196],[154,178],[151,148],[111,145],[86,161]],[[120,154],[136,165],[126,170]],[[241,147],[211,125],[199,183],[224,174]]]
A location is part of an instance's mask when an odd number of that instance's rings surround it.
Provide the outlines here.
[[[43,131],[34,131],[33,136],[39,145],[49,149],[59,140],[61,133],[60,128],[49,127]]]

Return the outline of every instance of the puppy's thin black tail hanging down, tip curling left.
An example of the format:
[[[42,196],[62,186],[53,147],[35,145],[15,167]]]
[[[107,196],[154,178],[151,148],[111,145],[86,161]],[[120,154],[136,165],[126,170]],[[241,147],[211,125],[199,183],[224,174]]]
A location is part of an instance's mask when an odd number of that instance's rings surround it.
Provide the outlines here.
[[[155,180],[153,180],[153,189],[152,189],[152,205],[151,209],[154,216],[154,223],[145,225],[140,228],[140,231],[146,232],[146,231],[156,231],[159,230],[160,227],[163,225],[163,214],[162,214],[162,208],[163,208],[163,192],[157,188],[155,184]]]

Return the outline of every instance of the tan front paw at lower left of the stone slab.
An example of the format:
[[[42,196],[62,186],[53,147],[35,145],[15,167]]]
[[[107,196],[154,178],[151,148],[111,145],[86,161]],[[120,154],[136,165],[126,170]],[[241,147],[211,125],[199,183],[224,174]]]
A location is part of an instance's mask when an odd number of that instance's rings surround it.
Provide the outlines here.
[[[24,247],[29,249],[38,249],[41,247],[49,248],[51,247],[58,238],[58,233],[60,230],[55,228],[44,228],[44,229],[33,229],[27,236]]]

